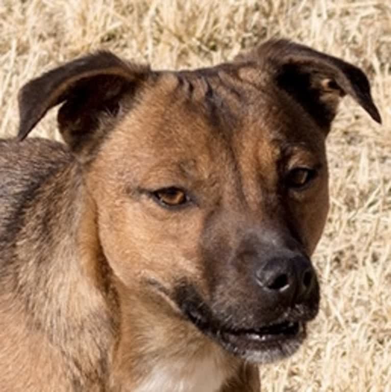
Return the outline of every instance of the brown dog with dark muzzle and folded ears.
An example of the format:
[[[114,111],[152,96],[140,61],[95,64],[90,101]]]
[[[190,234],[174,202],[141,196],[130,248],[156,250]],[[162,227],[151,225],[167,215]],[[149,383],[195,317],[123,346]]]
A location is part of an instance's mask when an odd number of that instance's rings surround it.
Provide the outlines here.
[[[357,67],[270,40],[210,68],[108,51],[19,93],[0,141],[7,392],[258,392],[318,311],[325,140]],[[65,143],[28,138],[51,108]]]

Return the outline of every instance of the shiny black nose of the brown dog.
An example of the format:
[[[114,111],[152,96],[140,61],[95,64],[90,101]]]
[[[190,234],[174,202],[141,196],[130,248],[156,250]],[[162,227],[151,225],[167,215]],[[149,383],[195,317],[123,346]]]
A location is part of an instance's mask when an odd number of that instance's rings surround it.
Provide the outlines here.
[[[316,280],[310,260],[303,255],[272,257],[256,271],[258,284],[268,293],[278,293],[287,303],[306,300]]]

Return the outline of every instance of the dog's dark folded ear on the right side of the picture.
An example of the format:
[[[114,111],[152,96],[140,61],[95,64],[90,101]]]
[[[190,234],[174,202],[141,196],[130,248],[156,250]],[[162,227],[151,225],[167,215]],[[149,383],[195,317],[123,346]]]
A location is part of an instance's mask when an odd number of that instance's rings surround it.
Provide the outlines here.
[[[328,130],[340,98],[350,95],[371,117],[381,117],[365,74],[333,56],[292,43],[270,40],[237,61],[261,62],[277,85],[297,100],[322,128]]]

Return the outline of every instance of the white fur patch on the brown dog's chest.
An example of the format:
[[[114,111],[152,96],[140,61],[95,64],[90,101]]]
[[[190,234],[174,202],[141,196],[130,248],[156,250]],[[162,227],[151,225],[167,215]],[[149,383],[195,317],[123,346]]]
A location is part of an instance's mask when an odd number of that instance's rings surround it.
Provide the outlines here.
[[[134,392],[217,392],[227,377],[214,358],[156,366]]]

